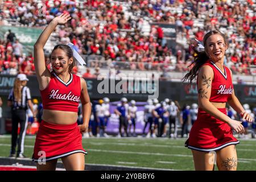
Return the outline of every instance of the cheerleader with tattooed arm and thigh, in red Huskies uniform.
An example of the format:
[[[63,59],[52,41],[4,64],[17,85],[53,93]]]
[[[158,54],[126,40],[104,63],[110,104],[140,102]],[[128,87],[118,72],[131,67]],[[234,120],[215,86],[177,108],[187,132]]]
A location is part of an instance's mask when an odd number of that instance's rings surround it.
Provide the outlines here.
[[[198,46],[195,46],[197,44]],[[228,42],[220,31],[205,34],[203,44],[197,40],[191,44],[195,51],[192,69],[183,81],[191,84],[197,77],[199,110],[185,146],[190,148],[196,170],[213,170],[216,159],[218,170],[236,170],[236,144],[233,130],[242,134],[245,130],[240,121],[226,115],[226,103],[243,120],[252,122],[250,114],[238,101],[232,84],[232,72],[224,65]]]

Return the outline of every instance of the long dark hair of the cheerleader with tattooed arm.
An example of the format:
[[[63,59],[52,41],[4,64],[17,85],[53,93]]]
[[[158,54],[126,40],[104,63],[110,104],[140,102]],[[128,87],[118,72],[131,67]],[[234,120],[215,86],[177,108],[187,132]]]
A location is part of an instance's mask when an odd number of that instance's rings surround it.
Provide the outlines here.
[[[205,48],[206,48],[206,43],[207,43],[207,39],[209,38],[209,36],[215,35],[215,34],[221,35],[222,38],[224,39],[225,44],[228,45],[228,42],[226,41],[225,35],[222,34],[220,31],[213,30],[213,31],[209,31],[207,34],[204,35],[203,44],[204,44]],[[194,64],[194,65],[193,65],[192,69],[190,69],[190,71],[182,78],[183,82],[188,80],[189,85],[191,85],[192,81],[195,80],[195,78],[196,78],[196,76],[199,72],[200,67],[203,64],[205,64],[205,62],[207,60],[209,60],[209,57],[208,57],[207,52],[206,52],[207,50],[204,49],[204,51],[199,51],[197,49],[197,46],[192,46],[192,49],[194,51],[194,53],[193,53],[194,60],[188,66],[188,68],[191,67],[192,64]]]

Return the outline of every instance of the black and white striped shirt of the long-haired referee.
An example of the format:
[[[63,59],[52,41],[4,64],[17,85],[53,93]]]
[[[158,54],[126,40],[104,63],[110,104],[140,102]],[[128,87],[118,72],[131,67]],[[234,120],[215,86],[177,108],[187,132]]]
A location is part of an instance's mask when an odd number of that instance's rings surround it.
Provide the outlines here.
[[[13,102],[12,109],[27,109],[27,101],[31,100],[31,94],[30,94],[30,89],[27,86],[23,86],[22,88],[22,98],[21,102],[15,101],[14,98],[14,90],[11,89],[11,92],[9,94],[8,100]]]

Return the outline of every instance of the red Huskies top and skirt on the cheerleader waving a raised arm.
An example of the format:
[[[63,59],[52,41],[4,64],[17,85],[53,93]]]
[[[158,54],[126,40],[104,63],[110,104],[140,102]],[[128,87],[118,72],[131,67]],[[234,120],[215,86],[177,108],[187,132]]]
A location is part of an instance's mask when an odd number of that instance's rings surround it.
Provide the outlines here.
[[[40,92],[43,109],[77,113],[81,94],[80,77],[71,74],[69,81],[65,83],[52,72],[47,88]],[[82,148],[82,134],[76,122],[71,125],[57,125],[47,121],[40,123],[33,161],[49,161],[78,152],[87,154]]]

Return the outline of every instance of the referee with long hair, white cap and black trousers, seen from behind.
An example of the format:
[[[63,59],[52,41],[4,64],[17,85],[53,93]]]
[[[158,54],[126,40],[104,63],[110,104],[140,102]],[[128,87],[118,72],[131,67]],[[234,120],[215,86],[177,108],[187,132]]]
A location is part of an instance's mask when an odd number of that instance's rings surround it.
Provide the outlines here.
[[[24,74],[19,74],[15,78],[14,87],[8,97],[7,105],[11,107],[11,158],[15,157],[16,144],[18,143],[18,151],[16,158],[25,158],[24,152],[24,139],[27,130],[27,108],[33,111],[33,105],[31,102],[30,89],[26,86],[28,78]],[[28,107],[27,107],[28,106]],[[35,117],[35,113],[34,117]],[[18,123],[20,123],[20,133],[18,139]],[[18,142],[17,142],[18,139]]]

